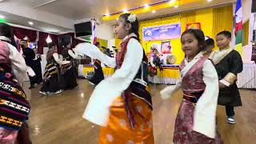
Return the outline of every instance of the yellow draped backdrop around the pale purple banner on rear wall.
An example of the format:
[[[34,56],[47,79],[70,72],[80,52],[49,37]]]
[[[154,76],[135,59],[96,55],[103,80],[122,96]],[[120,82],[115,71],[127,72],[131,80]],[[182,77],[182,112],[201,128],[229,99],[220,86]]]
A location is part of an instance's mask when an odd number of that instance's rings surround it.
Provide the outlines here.
[[[189,11],[186,13],[176,14],[165,18],[156,18],[140,22],[139,34],[142,42],[142,46],[146,53],[150,52],[152,45],[162,45],[162,42],[170,42],[171,51],[177,57],[176,64],[180,64],[184,58],[182,52],[182,44],[180,37],[174,37],[169,40],[158,40],[158,41],[145,41],[143,40],[143,29],[145,31],[148,27],[155,26],[167,26],[180,23],[181,33],[186,30],[186,24],[200,22],[202,31],[209,36],[214,38],[222,30],[232,30],[233,24],[233,6],[223,6],[218,8],[210,8],[204,10]],[[120,42],[120,41],[119,41]]]

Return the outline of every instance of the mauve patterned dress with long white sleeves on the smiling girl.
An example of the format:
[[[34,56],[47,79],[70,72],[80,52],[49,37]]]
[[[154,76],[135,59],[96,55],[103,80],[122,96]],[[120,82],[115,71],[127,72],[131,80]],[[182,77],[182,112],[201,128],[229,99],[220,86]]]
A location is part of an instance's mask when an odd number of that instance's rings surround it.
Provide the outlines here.
[[[214,65],[199,53],[191,62],[180,65],[181,81],[161,91],[162,98],[170,96],[180,87],[182,104],[174,127],[174,144],[223,143],[216,128],[218,101],[218,75]]]

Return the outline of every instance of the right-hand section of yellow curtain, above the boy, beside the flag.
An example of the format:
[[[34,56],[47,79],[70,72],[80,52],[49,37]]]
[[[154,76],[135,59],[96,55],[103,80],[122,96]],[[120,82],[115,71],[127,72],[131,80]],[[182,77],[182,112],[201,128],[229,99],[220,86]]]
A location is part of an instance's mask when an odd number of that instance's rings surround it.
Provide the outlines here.
[[[223,31],[228,30],[232,32],[233,29],[233,6],[224,6],[214,8],[213,17],[213,37]]]

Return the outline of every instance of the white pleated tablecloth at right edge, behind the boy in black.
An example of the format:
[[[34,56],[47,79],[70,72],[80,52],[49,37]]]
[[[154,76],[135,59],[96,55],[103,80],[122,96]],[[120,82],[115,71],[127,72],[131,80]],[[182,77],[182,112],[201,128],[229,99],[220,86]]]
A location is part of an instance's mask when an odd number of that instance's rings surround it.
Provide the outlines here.
[[[242,73],[238,74],[238,88],[256,89],[256,64],[243,64]]]

